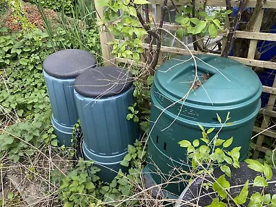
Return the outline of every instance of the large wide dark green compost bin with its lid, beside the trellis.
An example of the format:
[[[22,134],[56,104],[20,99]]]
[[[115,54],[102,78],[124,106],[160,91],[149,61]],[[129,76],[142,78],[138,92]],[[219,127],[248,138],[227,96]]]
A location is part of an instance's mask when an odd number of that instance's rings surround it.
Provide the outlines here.
[[[219,132],[220,139],[234,137],[228,150],[242,146],[240,160],[248,154],[255,117],[261,106],[259,78],[237,61],[210,55],[197,57],[201,59],[195,60],[203,85],[194,86],[193,90],[190,88],[195,79],[195,61],[190,56],[170,59],[155,73],[150,90],[150,137],[145,172],[150,173],[150,179],[157,184],[177,175],[173,168],[189,169],[186,152],[178,142],[201,138],[198,124],[207,129],[215,128],[210,134],[214,137],[221,128],[217,114],[225,120],[230,112],[231,124]],[[183,97],[189,90],[184,103]],[[148,178],[148,174],[146,176]],[[183,189],[184,184],[166,187],[176,195]]]

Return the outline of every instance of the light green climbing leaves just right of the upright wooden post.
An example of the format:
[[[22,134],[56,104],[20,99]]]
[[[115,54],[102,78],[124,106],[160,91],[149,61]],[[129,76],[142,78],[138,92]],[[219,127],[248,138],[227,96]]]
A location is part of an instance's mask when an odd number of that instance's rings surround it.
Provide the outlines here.
[[[112,23],[108,27],[112,34],[119,39],[125,39],[124,43],[119,41],[110,41],[113,46],[112,55],[116,57],[123,57],[132,59],[136,63],[139,62],[141,53],[144,52],[142,48],[141,38],[148,34],[144,28],[139,28],[140,23],[137,20],[136,5],[141,6],[149,3],[145,0],[135,1],[102,1],[100,6],[106,6],[104,17],[101,19],[102,23],[111,23],[120,19],[118,23]],[[119,14],[118,11],[121,13]]]

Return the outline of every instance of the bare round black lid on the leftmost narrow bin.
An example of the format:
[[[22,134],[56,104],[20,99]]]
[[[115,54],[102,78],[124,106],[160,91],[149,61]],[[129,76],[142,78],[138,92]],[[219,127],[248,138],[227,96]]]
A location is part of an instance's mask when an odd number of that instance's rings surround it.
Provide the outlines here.
[[[96,64],[96,59],[90,52],[68,49],[48,56],[43,62],[43,70],[52,77],[70,79],[88,68],[95,68]]]

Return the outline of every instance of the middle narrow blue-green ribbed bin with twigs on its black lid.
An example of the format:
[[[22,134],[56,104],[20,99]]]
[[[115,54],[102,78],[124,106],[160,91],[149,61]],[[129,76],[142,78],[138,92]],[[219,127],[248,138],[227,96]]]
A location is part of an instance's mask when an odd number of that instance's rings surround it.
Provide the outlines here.
[[[135,103],[132,93],[132,74],[115,66],[93,68],[75,81],[83,154],[101,168],[103,181],[112,181],[128,144],[139,139],[139,126],[126,119],[128,106]]]

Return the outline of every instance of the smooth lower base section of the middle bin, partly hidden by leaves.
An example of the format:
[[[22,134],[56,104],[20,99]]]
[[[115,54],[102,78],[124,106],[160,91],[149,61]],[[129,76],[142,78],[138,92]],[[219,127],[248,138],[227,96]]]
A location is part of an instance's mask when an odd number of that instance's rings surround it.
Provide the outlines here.
[[[84,142],[82,149],[84,158],[95,161],[94,166],[101,169],[101,171],[97,174],[101,178],[101,181],[110,183],[116,177],[120,169],[122,172],[126,172],[128,170],[127,167],[121,166],[120,164],[128,151],[114,156],[97,155],[91,152]]]

